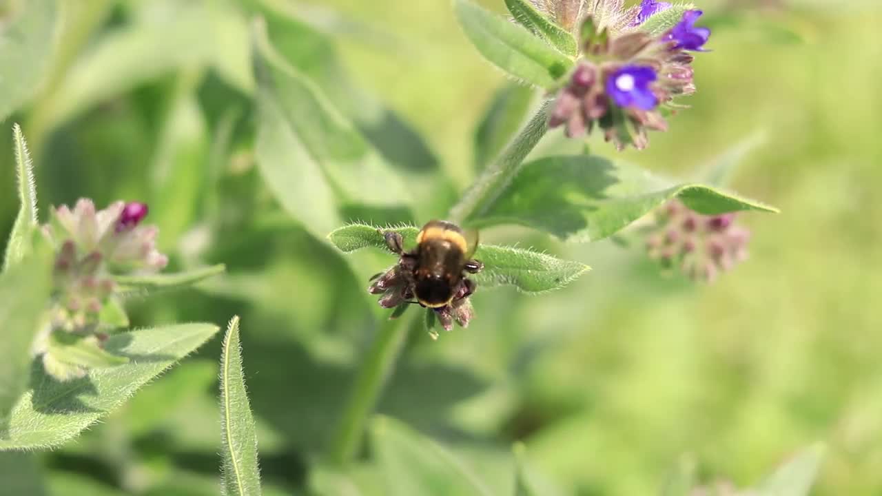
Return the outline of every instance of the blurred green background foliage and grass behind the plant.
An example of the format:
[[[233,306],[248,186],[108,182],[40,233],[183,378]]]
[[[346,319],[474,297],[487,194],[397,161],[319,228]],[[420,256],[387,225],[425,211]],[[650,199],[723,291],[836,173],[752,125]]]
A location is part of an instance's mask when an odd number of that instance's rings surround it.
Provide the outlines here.
[[[220,325],[240,314],[264,479],[305,493],[383,316],[361,291],[392,259],[359,255],[351,270],[265,188],[253,155],[253,5],[62,4],[62,41],[32,69],[44,72],[41,89],[0,132],[0,239],[17,211],[20,122],[43,215],[78,197],[146,200],[173,268],[226,263],[199,289],[131,301],[132,322]],[[269,4],[290,14],[279,15],[280,49],[413,184],[410,221],[443,215],[475,177],[475,125],[505,84],[448,2]],[[596,137],[590,146],[687,176],[763,132],[732,186],[781,214],[743,215],[751,258],[698,286],[659,274],[639,246],[484,233],[594,270],[539,297],[479,290],[472,325],[437,342],[413,329],[379,410],[451,447],[494,493],[511,491],[516,440],[579,495],[653,494],[684,456],[702,480],[751,485],[815,441],[827,451],[814,494],[882,493],[882,7],[699,6],[713,52],[697,57],[691,109],[645,152],[617,154]],[[425,142],[401,134],[404,123]],[[557,134],[542,150],[564,147]],[[216,494],[219,341],[39,454],[53,493]],[[370,486],[370,462],[356,478]]]

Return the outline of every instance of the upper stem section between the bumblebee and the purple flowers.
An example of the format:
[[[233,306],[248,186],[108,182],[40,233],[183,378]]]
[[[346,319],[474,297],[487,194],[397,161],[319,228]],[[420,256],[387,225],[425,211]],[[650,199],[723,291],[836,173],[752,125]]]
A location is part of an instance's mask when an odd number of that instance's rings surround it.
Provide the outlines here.
[[[517,176],[527,154],[548,131],[548,110],[551,101],[542,102],[534,116],[520,130],[503,150],[496,161],[484,169],[462,199],[453,206],[448,218],[451,222],[462,223],[482,214]]]

